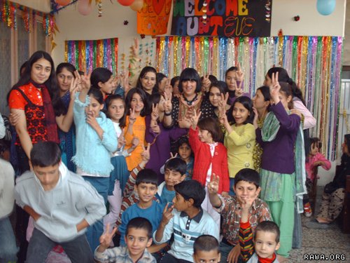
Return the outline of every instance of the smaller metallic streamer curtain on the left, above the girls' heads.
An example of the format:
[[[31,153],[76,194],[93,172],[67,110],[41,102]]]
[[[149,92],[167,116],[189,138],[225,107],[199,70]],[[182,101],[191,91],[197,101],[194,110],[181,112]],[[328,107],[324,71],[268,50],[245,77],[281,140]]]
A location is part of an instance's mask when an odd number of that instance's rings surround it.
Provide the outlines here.
[[[69,40],[65,42],[65,61],[84,72],[106,67],[118,70],[118,39]]]

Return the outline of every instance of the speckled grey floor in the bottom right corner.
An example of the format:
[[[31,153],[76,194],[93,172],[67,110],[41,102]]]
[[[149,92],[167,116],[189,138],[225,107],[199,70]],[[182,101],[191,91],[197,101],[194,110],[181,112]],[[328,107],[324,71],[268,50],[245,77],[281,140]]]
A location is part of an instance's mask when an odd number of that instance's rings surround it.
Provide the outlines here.
[[[318,189],[316,212],[321,202],[322,191],[323,188]],[[350,234],[342,233],[338,222],[330,224],[328,229],[308,229],[305,224],[313,218],[302,215],[302,248],[290,252],[288,263],[350,262]],[[312,256],[328,257],[328,260],[307,260],[307,257],[310,259]]]

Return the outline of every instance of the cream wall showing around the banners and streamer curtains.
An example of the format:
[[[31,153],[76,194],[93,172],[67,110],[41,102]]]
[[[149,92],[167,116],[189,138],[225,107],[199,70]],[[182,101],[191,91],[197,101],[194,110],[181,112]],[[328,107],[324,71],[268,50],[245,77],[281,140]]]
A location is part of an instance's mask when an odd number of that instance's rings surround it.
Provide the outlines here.
[[[344,36],[346,0],[336,1],[335,11],[331,15],[323,16],[316,11],[316,0],[273,0],[271,34],[276,36],[279,29],[282,29],[285,35]],[[87,16],[80,15],[75,5],[64,8],[56,15],[59,32],[54,39],[57,46],[52,50],[52,57],[56,64],[64,61],[64,41],[66,40],[118,37],[119,55],[129,54],[132,39],[139,37],[137,13],[129,7],[121,6],[116,0],[103,1],[103,5],[102,18],[98,17],[96,6]],[[293,20],[295,15],[300,16],[300,21]],[[128,20],[129,24],[123,25],[124,20]],[[144,41],[147,41],[147,37]],[[118,65],[120,68],[120,60]],[[336,163],[333,162],[332,169],[328,172],[322,168],[319,169],[321,179],[318,184],[324,185],[332,180],[335,165]]]

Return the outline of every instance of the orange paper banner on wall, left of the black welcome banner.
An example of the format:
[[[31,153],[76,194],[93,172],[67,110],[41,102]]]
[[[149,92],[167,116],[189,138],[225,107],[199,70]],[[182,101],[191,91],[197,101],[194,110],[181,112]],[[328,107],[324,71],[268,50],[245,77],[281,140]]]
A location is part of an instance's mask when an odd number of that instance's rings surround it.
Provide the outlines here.
[[[144,1],[144,7],[137,12],[137,33],[166,34],[171,8],[172,0]]]

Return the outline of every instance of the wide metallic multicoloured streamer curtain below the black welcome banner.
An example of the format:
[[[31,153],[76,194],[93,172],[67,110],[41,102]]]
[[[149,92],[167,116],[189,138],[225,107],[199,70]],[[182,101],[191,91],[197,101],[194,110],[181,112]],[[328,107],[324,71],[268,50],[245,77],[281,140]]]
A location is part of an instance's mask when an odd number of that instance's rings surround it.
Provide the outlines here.
[[[168,76],[193,67],[201,76],[225,79],[225,70],[241,65],[244,90],[253,95],[270,67],[284,67],[304,94],[317,119],[311,130],[320,137],[328,159],[336,158],[342,37],[271,36],[160,36],[156,39],[156,67]]]

